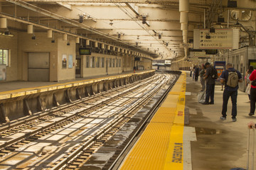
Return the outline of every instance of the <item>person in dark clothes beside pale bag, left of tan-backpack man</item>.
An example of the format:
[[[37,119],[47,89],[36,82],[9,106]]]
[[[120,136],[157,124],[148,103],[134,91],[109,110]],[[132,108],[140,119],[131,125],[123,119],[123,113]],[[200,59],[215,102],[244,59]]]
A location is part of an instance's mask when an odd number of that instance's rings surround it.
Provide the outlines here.
[[[203,79],[206,80],[206,101],[202,104],[214,104],[214,89],[215,79],[213,79],[213,66],[209,62],[206,62],[206,76]],[[209,102],[210,99],[210,102]]]

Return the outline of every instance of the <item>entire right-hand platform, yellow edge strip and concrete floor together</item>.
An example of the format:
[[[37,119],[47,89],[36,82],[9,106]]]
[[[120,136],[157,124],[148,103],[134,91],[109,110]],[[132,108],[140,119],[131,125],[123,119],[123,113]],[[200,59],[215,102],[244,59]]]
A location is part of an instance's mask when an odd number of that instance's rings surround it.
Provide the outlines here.
[[[188,73],[181,75],[120,169],[245,169],[247,123],[256,120],[248,115],[247,94],[238,91],[238,120],[233,122],[231,101],[227,120],[220,120],[221,86],[215,86],[214,105],[198,103],[199,91],[200,81],[193,81]],[[184,113],[189,114],[188,125],[184,125]]]

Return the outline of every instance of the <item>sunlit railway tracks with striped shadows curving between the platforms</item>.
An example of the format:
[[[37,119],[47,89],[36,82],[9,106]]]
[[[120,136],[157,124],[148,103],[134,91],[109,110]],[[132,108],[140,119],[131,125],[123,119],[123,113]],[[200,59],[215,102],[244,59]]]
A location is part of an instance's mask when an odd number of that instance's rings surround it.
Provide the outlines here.
[[[156,74],[2,130],[0,169],[79,169],[170,79]]]

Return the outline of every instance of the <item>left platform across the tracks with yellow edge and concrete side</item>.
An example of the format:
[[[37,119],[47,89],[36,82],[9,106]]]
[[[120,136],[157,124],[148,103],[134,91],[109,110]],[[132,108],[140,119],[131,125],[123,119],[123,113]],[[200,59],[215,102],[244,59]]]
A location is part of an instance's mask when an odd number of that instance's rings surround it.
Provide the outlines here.
[[[146,79],[154,73],[152,69],[62,82],[5,82],[0,84],[0,123],[26,120],[31,115]]]

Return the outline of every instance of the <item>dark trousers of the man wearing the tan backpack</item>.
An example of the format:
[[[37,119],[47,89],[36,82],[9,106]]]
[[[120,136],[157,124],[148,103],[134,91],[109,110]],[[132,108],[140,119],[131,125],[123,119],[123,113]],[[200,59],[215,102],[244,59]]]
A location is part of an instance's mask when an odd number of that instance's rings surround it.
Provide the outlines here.
[[[238,98],[238,91],[227,91],[224,90],[223,92],[223,117],[227,117],[227,105],[228,99],[231,96],[232,101],[232,118],[235,118],[237,115],[237,98]]]

